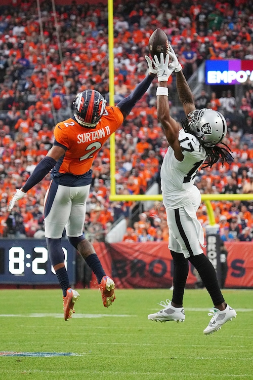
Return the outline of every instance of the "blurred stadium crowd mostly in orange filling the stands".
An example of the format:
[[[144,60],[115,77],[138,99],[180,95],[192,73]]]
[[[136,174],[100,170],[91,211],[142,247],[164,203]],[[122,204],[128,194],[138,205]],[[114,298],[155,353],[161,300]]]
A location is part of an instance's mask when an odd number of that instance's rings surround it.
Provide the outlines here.
[[[186,78],[206,59],[252,59],[252,1],[199,0],[114,2],[114,102],[117,104],[146,75],[148,40],[162,28],[178,55]],[[187,11],[188,10],[188,11]],[[39,19],[40,16],[40,19]],[[41,22],[39,22],[39,20]],[[175,82],[170,77],[170,102]],[[20,188],[53,144],[57,122],[73,113],[76,93],[96,89],[109,103],[108,19],[101,4],[74,1],[69,6],[21,0],[0,6],[0,236],[43,236],[43,200],[48,175],[7,211],[10,197]],[[243,95],[233,88],[222,93],[204,88],[197,108],[220,110],[226,117],[225,143],[234,160],[224,167],[203,169],[196,178],[202,194],[253,192],[253,82]],[[156,117],[156,83],[137,103],[115,133],[116,192],[144,194],[159,184],[159,168],[167,141]],[[111,202],[109,142],[96,157],[84,229],[91,241],[104,240],[120,217],[128,220],[124,241],[168,240],[164,207],[156,204],[138,212],[136,202]],[[224,241],[253,239],[253,202],[212,202]],[[136,216],[134,216],[135,214]],[[205,205],[198,211],[208,224]]]

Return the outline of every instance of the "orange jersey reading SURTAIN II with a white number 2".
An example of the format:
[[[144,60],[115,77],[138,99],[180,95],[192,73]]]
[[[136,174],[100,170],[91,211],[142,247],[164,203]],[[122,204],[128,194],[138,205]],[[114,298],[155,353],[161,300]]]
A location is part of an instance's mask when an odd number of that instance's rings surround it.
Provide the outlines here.
[[[67,148],[63,160],[59,160],[55,170],[59,173],[83,175],[91,168],[95,156],[102,145],[122,124],[123,115],[118,107],[106,107],[104,114],[95,128],[86,128],[74,118],[56,125],[55,140]],[[54,143],[54,144],[57,144]]]

